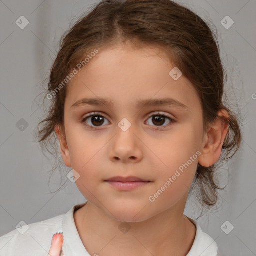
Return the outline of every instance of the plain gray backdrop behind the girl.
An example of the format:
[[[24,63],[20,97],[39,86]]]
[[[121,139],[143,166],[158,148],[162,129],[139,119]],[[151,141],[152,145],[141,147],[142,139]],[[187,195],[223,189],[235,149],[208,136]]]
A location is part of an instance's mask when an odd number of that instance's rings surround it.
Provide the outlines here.
[[[37,96],[49,75],[60,36],[97,2],[0,0],[0,236],[21,220],[27,224],[45,220],[85,201],[69,180],[58,190],[71,168],[63,165],[62,174],[55,172],[48,184],[52,162],[42,154],[32,134],[43,117]],[[221,255],[256,255],[256,1],[177,2],[216,27],[228,74],[226,91],[233,109],[243,118],[241,148],[219,172],[221,184],[228,186],[219,193],[218,209],[197,221],[216,240]],[[24,29],[15,24],[21,15],[29,21]],[[229,29],[220,23],[226,15],[234,21]],[[23,131],[16,125],[21,118],[28,123]],[[189,197],[185,214],[195,219],[199,212],[193,197]],[[229,234],[221,229],[225,221],[230,222],[224,225],[225,230],[234,226]]]

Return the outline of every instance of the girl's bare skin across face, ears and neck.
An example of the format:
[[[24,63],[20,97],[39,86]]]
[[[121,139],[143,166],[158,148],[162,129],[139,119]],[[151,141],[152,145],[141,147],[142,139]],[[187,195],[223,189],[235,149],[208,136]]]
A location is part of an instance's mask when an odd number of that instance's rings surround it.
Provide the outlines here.
[[[121,44],[100,49],[68,84],[64,125],[56,125],[55,132],[63,161],[79,173],[76,185],[88,201],[75,211],[74,220],[90,255],[186,255],[193,244],[196,227],[183,215],[189,188],[198,162],[208,167],[219,159],[228,125],[217,119],[203,130],[199,97],[186,77],[169,75],[174,67],[160,48]],[[166,96],[187,110],[135,107],[138,99]],[[110,98],[114,106],[71,107],[85,97]],[[106,118],[96,126],[89,117],[90,129],[81,120],[95,111]],[[157,111],[174,122],[153,122]],[[228,116],[224,110],[218,114]],[[118,126],[123,118],[131,123],[125,132]],[[149,196],[196,151],[200,156],[150,202]],[[104,181],[130,175],[151,182],[119,191]],[[118,228],[122,222],[130,226],[125,234]]]

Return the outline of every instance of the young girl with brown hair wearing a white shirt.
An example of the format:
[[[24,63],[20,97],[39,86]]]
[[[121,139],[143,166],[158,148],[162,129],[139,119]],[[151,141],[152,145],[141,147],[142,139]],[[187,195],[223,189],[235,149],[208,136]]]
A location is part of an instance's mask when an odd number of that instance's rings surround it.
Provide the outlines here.
[[[202,206],[216,204],[215,163],[240,145],[224,74],[217,40],[191,10],[99,2],[61,40],[39,129],[40,142],[58,139],[87,201],[5,234],[0,255],[216,256],[183,213],[195,185]]]

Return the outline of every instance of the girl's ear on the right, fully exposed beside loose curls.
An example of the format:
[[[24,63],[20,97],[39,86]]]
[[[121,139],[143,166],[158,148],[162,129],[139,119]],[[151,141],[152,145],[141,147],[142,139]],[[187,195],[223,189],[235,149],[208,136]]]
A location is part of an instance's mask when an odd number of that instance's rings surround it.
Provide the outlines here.
[[[218,111],[218,116],[229,118],[228,112],[224,109]],[[198,163],[204,167],[213,165],[220,158],[222,145],[229,129],[229,124],[219,117],[209,126],[204,136],[203,148],[198,158]]]

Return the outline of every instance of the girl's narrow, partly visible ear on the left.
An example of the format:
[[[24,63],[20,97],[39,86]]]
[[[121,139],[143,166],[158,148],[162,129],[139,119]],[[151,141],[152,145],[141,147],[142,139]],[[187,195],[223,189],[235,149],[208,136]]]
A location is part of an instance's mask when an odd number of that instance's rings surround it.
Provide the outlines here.
[[[59,140],[60,154],[62,156],[62,159],[67,167],[71,167],[70,154],[69,154],[69,149],[66,143],[64,127],[62,127],[62,125],[60,124],[57,124],[55,125],[54,130]]]

